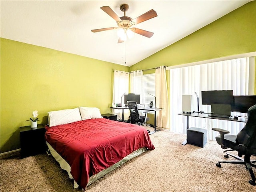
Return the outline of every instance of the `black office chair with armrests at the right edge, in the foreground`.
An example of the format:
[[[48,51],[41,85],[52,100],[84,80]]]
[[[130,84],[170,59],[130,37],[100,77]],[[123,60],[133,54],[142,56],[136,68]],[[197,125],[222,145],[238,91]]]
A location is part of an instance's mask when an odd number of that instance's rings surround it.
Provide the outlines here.
[[[234,150],[238,152],[238,156],[232,155],[230,153],[226,153],[224,156],[225,158],[228,158],[230,155],[237,160],[219,161],[216,166],[221,167],[221,163],[244,164],[252,177],[252,180],[249,180],[249,183],[256,185],[256,178],[252,171],[252,167],[256,167],[256,161],[250,160],[252,155],[256,155],[256,105],[248,109],[247,123],[237,135],[230,135],[228,134],[229,131],[219,128],[212,128],[212,130],[218,131],[220,133],[220,135],[216,136],[216,141],[219,145],[221,145],[222,149],[231,148],[231,150],[226,150],[224,152]],[[244,159],[241,158],[243,155]]]

